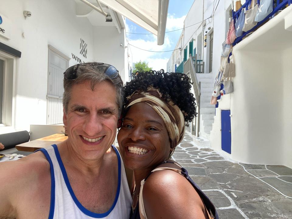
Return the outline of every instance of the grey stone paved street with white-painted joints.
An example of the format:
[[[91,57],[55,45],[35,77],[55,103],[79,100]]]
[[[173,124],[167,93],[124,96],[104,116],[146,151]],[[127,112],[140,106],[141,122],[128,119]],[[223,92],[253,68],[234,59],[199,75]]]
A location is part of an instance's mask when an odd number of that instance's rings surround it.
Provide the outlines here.
[[[292,218],[292,169],[230,162],[200,143],[186,132],[173,159],[212,200],[220,218]]]

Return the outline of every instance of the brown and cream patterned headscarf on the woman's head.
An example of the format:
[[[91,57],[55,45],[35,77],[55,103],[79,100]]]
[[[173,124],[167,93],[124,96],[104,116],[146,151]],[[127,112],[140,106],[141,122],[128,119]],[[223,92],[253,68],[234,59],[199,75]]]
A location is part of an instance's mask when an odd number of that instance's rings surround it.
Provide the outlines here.
[[[151,106],[162,118],[170,138],[170,148],[175,148],[185,135],[184,116],[179,107],[172,101],[166,102],[162,99],[162,94],[153,87],[148,87],[147,91],[135,91],[127,97],[130,107],[135,103],[143,102]]]

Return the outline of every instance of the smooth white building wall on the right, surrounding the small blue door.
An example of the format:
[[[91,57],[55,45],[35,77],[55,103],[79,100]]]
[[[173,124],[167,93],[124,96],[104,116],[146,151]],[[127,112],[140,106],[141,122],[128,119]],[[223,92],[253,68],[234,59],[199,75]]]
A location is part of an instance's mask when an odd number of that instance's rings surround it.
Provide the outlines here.
[[[234,93],[221,98],[210,141],[221,150],[220,109],[230,109],[231,155],[226,155],[236,161],[292,167],[292,32],[284,29],[291,12],[283,10],[233,47]]]

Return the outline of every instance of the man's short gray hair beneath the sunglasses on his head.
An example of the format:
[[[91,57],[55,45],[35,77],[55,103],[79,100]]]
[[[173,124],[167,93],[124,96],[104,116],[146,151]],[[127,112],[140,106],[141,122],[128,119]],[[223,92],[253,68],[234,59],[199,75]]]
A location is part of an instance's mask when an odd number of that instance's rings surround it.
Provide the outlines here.
[[[65,113],[68,112],[68,105],[71,99],[71,89],[75,84],[82,84],[86,81],[90,82],[90,88],[93,91],[96,84],[100,82],[107,81],[111,83],[116,89],[116,103],[119,106],[119,116],[121,114],[121,109],[123,106],[123,81],[120,75],[117,75],[116,78],[109,78],[103,72],[100,72],[94,68],[95,64],[82,64],[76,65],[77,78],[75,80],[68,80],[64,78],[64,94],[63,94],[63,106],[65,108]]]

